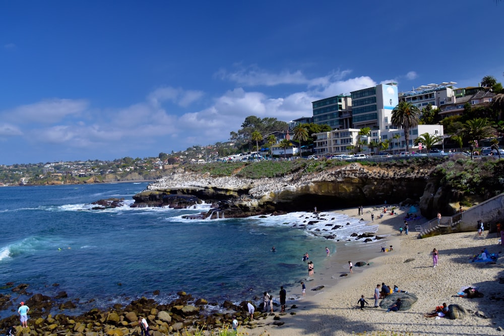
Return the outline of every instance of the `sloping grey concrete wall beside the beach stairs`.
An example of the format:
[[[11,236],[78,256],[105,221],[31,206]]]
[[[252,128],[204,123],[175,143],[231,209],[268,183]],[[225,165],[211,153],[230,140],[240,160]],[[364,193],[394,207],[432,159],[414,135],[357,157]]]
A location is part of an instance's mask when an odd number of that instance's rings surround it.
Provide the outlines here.
[[[488,230],[488,223],[499,221],[504,218],[504,193],[469,208],[462,213],[461,231],[477,231],[476,224],[482,220],[485,230]],[[503,223],[504,224],[504,223]]]

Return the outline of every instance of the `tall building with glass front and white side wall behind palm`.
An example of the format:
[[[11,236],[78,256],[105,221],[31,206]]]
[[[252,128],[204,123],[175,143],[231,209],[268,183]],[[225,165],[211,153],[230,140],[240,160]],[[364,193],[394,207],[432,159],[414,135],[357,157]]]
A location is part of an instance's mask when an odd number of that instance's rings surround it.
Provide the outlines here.
[[[379,84],[375,87],[353,91],[352,128],[389,129],[392,110],[399,103],[397,83]]]

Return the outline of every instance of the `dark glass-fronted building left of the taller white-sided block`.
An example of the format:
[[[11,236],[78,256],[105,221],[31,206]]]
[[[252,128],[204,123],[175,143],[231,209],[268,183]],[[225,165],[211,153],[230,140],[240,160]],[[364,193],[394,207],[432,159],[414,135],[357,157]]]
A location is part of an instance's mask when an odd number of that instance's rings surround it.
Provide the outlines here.
[[[317,100],[311,103],[313,123],[329,125],[333,129],[350,128],[352,125],[352,99],[348,95],[339,95]]]

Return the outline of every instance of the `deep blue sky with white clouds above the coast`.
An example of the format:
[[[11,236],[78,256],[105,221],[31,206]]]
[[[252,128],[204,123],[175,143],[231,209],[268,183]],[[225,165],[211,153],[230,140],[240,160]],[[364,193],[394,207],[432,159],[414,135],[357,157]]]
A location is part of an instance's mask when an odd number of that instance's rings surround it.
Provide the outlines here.
[[[151,157],[395,81],[503,81],[504,2],[0,0],[0,164]]]

